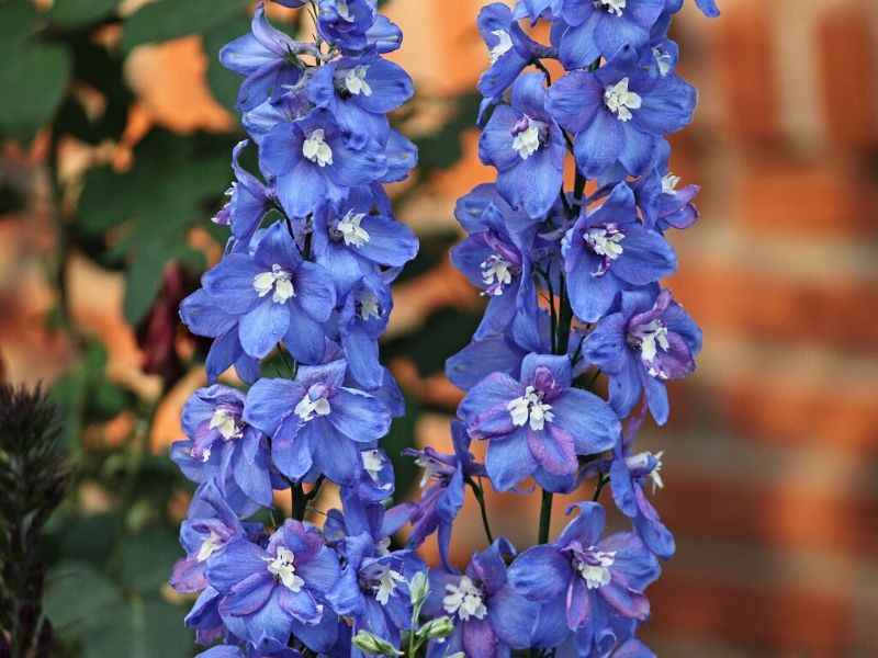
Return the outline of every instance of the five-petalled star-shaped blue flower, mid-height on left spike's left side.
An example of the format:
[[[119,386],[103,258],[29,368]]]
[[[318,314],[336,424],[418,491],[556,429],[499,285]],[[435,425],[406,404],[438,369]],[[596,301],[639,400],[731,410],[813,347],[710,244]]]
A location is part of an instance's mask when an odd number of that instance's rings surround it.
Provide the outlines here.
[[[320,322],[336,305],[326,271],[304,261],[286,227],[278,222],[252,256],[229,253],[202,277],[207,294],[239,317],[238,338],[250,356],[266,356],[278,341],[304,363],[323,358]]]

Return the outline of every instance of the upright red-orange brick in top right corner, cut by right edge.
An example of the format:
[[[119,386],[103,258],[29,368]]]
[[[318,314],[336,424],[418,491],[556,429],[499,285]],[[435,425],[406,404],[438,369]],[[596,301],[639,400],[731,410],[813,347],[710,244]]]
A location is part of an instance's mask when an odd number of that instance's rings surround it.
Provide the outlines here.
[[[878,38],[875,4],[849,2],[826,11],[818,32],[823,110],[832,137],[852,148],[878,148]]]

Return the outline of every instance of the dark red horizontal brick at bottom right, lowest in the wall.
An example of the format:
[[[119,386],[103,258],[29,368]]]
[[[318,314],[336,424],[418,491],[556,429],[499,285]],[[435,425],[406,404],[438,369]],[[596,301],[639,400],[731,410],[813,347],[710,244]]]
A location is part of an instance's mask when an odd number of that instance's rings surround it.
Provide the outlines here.
[[[648,593],[654,616],[646,640],[673,631],[811,658],[837,658],[851,647],[853,605],[837,595],[684,575],[673,563]]]

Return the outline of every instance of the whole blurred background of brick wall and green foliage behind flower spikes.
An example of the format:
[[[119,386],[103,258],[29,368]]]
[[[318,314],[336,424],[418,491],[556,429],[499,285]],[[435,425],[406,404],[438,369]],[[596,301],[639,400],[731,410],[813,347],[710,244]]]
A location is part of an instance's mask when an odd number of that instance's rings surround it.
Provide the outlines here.
[[[384,7],[418,89],[395,118],[421,149],[393,193],[423,245],[383,347],[409,399],[389,452],[448,446],[443,361],[481,311],[447,251],[455,198],[492,180],[473,127],[482,4]],[[672,658],[878,656],[878,8],[720,7],[708,21],[687,2],[673,33],[701,103],[672,170],[702,192],[666,285],[705,349],[643,440],[665,451],[654,502],[678,545],[643,636]],[[243,133],[216,53],[251,10],[0,0],[0,377],[44,382],[63,411],[77,475],[48,526],[47,606],[70,656],[192,654],[190,601],[164,585],[191,490],[167,449],[206,345],[177,306],[224,239],[209,219]],[[495,532],[533,542],[536,497],[487,504]],[[483,547],[469,506],[453,544],[461,564]]]

